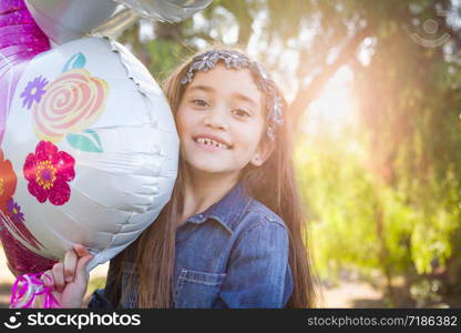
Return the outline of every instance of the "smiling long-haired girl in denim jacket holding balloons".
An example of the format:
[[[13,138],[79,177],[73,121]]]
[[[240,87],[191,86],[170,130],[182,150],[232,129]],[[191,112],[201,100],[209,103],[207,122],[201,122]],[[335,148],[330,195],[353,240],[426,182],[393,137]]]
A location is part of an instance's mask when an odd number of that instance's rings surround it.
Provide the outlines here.
[[[315,302],[286,102],[257,62],[215,49],[181,65],[165,92],[181,139],[172,200],[110,263],[90,307],[310,307]],[[90,253],[44,279],[80,307]]]

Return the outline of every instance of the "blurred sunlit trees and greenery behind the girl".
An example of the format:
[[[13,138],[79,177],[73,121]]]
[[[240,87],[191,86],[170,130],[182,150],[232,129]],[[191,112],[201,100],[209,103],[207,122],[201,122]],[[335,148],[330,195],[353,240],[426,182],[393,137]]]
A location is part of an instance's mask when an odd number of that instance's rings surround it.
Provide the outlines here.
[[[459,0],[214,0],[193,19],[141,21],[119,40],[158,81],[216,42],[239,44],[274,73],[290,102],[318,306],[459,307],[460,9]],[[0,281],[2,306],[11,281]]]

